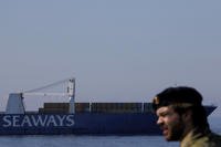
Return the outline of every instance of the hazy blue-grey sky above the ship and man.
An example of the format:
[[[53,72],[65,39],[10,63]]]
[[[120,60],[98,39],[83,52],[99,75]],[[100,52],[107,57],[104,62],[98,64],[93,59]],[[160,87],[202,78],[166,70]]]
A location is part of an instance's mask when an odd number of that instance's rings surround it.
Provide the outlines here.
[[[221,107],[220,6],[219,0],[2,0],[0,111],[9,93],[73,76],[76,102],[150,102],[166,87],[185,85],[197,88],[204,104]],[[25,105],[32,108],[40,99]]]

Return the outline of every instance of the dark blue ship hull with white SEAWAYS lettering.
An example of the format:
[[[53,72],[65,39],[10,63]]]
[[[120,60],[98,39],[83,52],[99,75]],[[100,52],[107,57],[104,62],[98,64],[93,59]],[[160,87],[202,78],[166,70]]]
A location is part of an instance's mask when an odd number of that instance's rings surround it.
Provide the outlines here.
[[[161,135],[156,120],[154,113],[0,114],[0,135]]]

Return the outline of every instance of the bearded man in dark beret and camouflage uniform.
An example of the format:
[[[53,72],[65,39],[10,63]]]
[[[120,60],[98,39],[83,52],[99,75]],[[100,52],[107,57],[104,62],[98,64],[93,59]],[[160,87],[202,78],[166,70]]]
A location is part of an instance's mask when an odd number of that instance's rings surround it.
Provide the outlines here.
[[[152,107],[167,140],[180,147],[221,147],[221,136],[210,130],[201,94],[192,87],[169,87],[157,94]]]

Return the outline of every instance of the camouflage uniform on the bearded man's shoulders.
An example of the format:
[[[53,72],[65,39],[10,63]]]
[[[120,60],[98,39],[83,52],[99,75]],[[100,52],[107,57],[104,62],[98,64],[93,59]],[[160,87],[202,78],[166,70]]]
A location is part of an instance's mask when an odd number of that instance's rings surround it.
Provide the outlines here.
[[[221,136],[209,129],[193,129],[181,140],[180,147],[221,147]]]

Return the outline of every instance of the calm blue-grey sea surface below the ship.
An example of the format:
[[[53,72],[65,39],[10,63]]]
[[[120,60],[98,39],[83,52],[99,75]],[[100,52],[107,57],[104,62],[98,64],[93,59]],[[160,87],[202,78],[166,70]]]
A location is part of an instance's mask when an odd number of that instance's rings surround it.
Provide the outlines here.
[[[221,117],[210,118],[211,129],[221,134]],[[178,147],[164,136],[0,136],[0,147]]]

